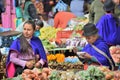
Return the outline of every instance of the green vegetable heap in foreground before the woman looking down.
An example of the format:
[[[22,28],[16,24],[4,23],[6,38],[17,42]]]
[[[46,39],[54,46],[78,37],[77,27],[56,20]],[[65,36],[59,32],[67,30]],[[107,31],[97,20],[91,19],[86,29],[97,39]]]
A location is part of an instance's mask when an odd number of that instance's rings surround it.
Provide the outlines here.
[[[95,66],[89,66],[86,71],[79,71],[77,80],[105,80],[105,74]]]

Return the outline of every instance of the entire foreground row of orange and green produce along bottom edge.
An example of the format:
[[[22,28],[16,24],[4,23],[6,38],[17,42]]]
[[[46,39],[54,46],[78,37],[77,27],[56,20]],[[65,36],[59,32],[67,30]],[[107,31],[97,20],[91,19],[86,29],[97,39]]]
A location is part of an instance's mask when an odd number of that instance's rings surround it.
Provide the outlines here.
[[[2,80],[120,80],[120,71],[110,71],[104,66],[89,66],[87,70],[34,68],[25,69],[17,77]]]

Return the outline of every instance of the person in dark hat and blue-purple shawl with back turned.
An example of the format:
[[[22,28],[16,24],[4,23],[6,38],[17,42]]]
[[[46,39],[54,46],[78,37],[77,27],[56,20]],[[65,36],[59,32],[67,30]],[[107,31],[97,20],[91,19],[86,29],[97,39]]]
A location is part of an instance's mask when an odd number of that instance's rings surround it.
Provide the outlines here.
[[[107,0],[104,4],[106,14],[97,23],[99,35],[108,45],[120,45],[120,21],[114,16],[115,4],[112,0]]]

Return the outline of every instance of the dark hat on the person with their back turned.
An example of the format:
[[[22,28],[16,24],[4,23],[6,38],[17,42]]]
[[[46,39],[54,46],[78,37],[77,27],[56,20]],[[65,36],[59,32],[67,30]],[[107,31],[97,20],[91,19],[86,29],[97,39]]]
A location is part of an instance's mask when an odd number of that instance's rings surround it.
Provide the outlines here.
[[[112,0],[106,0],[104,2],[103,8],[104,8],[105,11],[111,11],[111,10],[114,10],[115,4]]]

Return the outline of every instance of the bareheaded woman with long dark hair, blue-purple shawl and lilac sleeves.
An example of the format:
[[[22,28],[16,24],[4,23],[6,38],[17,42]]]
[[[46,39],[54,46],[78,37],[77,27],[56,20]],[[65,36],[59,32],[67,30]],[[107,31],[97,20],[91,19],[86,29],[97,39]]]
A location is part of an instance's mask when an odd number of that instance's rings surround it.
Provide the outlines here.
[[[34,37],[35,23],[26,21],[23,33],[11,45],[7,58],[7,77],[14,77],[24,69],[47,67],[47,58],[43,45],[38,37]]]

